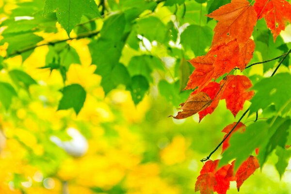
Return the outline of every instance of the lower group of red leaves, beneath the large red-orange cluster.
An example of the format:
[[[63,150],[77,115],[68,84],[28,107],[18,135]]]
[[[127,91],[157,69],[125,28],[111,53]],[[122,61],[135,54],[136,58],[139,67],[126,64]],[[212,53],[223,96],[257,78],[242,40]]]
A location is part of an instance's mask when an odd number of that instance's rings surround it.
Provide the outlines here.
[[[233,129],[235,125],[236,122],[227,125],[222,130],[222,132],[226,133],[223,139],[226,138],[227,134],[231,132],[231,129]],[[239,122],[232,132],[244,132],[245,127],[244,124]],[[223,142],[222,152],[229,146],[229,138],[230,135]],[[259,161],[255,156],[249,156],[249,158],[241,164],[236,173],[234,173],[235,161],[217,169],[218,163],[219,160],[207,161],[205,163],[195,184],[196,192],[200,191],[201,194],[213,194],[213,191],[215,191],[218,194],[226,194],[226,191],[229,189],[230,181],[237,182],[237,189],[239,191],[242,183],[259,168]]]

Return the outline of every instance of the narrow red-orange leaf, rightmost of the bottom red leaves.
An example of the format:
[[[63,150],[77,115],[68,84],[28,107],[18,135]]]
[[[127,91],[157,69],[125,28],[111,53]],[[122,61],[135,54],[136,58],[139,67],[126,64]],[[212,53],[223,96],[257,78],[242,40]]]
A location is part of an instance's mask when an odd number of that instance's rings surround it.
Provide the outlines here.
[[[237,178],[237,189],[240,191],[242,183],[259,168],[259,161],[255,156],[250,156],[239,167],[235,177]]]

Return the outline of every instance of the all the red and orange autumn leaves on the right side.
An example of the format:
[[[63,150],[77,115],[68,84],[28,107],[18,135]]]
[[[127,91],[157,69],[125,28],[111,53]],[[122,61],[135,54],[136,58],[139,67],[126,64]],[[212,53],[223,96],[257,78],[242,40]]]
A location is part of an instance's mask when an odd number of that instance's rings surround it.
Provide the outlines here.
[[[226,100],[226,109],[235,117],[243,109],[246,100],[254,96],[250,79],[244,75],[231,75],[234,70],[243,71],[253,58],[255,42],[251,39],[257,20],[264,18],[273,33],[274,41],[285,29],[287,21],[291,22],[291,5],[285,0],[256,0],[251,5],[247,0],[232,0],[208,15],[217,20],[209,52],[197,56],[189,62],[195,67],[185,89],[195,90],[185,103],[182,111],[174,118],[183,119],[195,113],[199,120],[213,113],[220,100]],[[216,82],[221,76],[223,79]],[[222,131],[222,152],[229,146],[231,132],[244,132],[245,125],[233,123]],[[258,149],[257,149],[258,150]],[[256,152],[257,152],[256,150]],[[207,158],[209,159],[209,158]],[[235,161],[218,168],[219,160],[207,161],[195,184],[195,191],[201,194],[226,194],[229,182],[236,181],[240,190],[242,183],[257,168],[259,161],[249,156],[238,168]],[[238,169],[234,172],[234,169]]]

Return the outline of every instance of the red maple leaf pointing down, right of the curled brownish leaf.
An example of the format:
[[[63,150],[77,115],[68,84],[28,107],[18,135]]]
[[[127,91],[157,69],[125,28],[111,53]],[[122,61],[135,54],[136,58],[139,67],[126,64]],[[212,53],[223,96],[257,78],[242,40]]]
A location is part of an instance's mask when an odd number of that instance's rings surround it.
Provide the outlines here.
[[[245,100],[254,96],[254,91],[247,91],[252,86],[246,76],[230,75],[220,82],[223,89],[221,99],[226,99],[226,108],[236,116],[242,110]]]

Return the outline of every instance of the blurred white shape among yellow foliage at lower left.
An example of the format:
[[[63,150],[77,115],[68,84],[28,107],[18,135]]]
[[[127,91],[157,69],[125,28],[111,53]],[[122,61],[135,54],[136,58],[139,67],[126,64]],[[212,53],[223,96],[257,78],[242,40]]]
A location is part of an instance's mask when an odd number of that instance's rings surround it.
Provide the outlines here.
[[[67,134],[72,138],[69,141],[62,141],[57,136],[50,136],[50,141],[62,147],[69,155],[74,157],[83,156],[88,150],[86,138],[75,128],[68,128]]]

